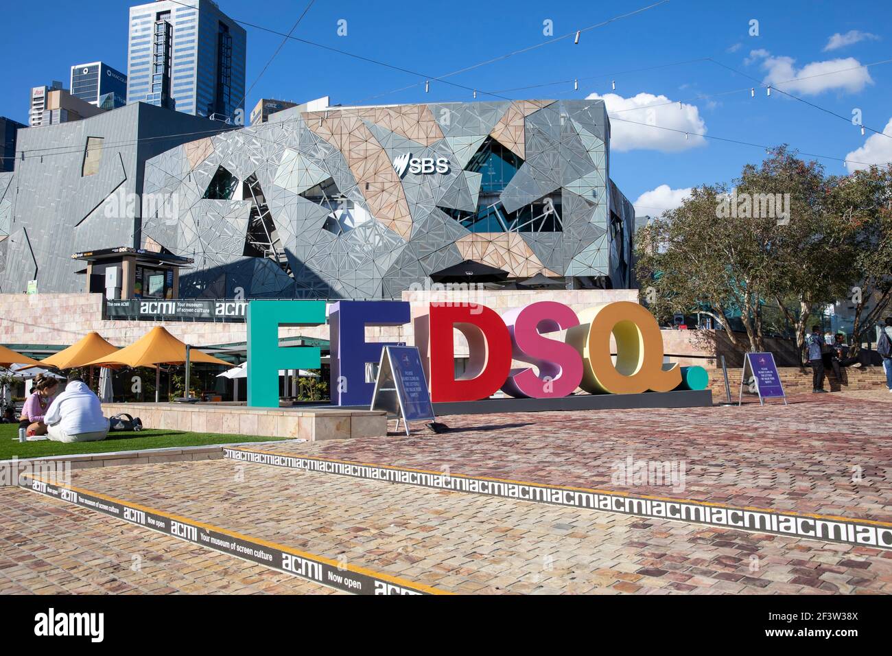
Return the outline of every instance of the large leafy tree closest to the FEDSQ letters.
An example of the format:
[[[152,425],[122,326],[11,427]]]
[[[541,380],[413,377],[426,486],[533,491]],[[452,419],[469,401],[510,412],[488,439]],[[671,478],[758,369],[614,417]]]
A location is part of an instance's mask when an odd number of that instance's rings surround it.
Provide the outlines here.
[[[839,201],[817,162],[801,160],[784,145],[768,155],[759,165],[747,164],[731,191],[721,184],[694,188],[679,208],[640,229],[640,286],[658,318],[705,313],[731,344],[750,350],[764,350],[773,309],[787,320],[802,352],[810,317],[846,296],[859,271],[881,270],[878,256],[858,253],[865,244],[872,253],[884,243],[881,221],[865,233],[863,222],[849,218],[852,212],[831,212],[830,200]],[[862,187],[853,202],[862,203],[872,190],[871,201],[880,206],[877,189]],[[877,285],[876,277],[867,278]],[[727,318],[736,314],[748,345],[729,326]]]

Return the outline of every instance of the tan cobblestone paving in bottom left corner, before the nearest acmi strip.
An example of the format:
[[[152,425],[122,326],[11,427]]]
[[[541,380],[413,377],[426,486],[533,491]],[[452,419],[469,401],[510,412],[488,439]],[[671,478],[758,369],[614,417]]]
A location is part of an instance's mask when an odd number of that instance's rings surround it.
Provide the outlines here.
[[[70,503],[0,489],[0,594],[334,592]]]

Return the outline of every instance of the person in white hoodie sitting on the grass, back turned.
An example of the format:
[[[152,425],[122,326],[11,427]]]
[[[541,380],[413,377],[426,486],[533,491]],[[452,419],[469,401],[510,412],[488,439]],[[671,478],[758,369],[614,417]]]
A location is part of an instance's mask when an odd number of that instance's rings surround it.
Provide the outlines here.
[[[99,397],[80,376],[68,378],[65,391],[56,396],[44,415],[46,436],[55,442],[95,442],[109,434]]]

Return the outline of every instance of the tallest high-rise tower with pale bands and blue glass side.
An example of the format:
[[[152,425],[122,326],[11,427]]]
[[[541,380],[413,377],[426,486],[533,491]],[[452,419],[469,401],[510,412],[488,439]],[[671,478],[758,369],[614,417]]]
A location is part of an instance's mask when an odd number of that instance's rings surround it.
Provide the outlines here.
[[[130,7],[128,103],[244,122],[244,29],[212,0]]]

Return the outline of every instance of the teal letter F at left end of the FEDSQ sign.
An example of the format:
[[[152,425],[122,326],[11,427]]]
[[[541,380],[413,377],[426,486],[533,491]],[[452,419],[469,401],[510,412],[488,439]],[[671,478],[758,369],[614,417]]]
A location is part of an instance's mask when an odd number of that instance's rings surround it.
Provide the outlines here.
[[[279,326],[320,326],[325,322],[325,301],[248,303],[248,407],[279,407],[280,370],[321,366],[318,346],[279,347]]]

